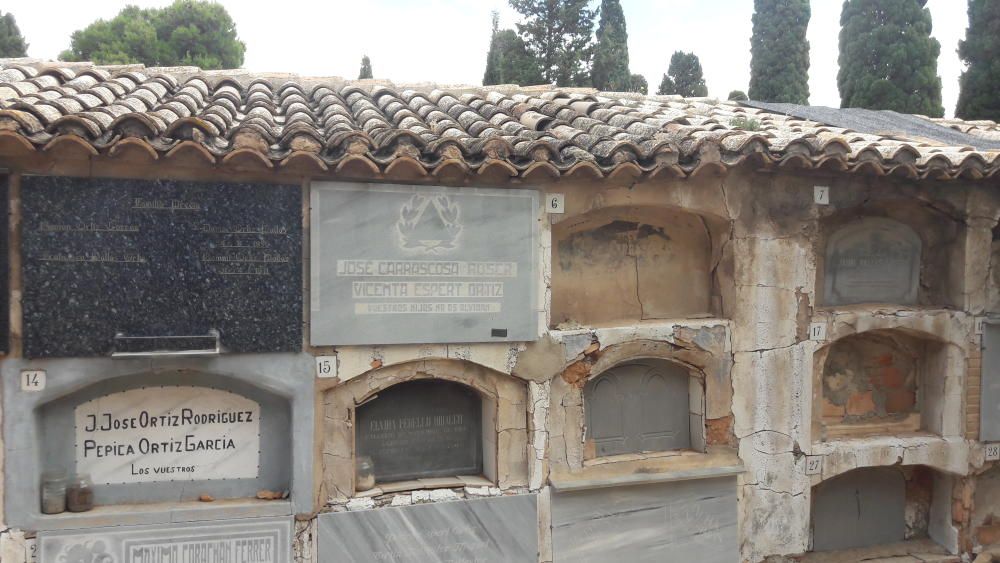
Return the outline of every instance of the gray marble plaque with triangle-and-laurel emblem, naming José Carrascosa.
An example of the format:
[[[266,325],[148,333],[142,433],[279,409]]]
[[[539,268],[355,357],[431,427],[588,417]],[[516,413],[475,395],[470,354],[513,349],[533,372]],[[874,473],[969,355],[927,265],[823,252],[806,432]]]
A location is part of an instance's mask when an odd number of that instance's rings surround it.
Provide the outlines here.
[[[534,340],[538,194],[316,183],[313,345]]]

